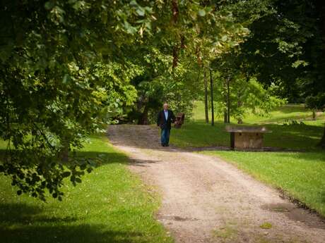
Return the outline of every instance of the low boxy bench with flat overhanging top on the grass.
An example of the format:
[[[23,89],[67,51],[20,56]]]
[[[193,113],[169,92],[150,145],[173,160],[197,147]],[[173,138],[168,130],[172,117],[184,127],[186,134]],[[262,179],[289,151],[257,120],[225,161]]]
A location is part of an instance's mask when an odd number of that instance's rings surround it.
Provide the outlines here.
[[[230,147],[232,149],[261,149],[264,133],[271,132],[266,127],[228,125],[230,132]]]

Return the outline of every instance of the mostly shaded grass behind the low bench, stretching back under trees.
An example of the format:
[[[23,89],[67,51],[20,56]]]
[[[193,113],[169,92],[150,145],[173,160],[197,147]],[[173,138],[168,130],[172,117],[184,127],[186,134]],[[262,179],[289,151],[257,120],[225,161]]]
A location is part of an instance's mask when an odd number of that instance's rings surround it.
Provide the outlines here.
[[[181,129],[172,130],[172,144],[179,147],[229,146],[230,135],[225,131],[225,124],[220,119],[215,120],[214,126],[205,123],[201,101],[196,101],[193,113],[193,119]],[[264,137],[265,147],[313,150],[324,132],[325,115],[322,113],[317,119],[312,120],[312,112],[304,106],[290,104],[274,109],[268,116],[249,115],[244,119],[244,125],[264,125],[272,131]],[[304,124],[283,125],[287,120]]]

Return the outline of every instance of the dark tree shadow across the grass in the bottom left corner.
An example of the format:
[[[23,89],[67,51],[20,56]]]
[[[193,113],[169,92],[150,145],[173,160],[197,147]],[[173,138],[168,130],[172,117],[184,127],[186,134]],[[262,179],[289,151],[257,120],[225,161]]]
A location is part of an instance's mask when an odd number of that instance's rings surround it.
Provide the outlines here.
[[[123,232],[105,228],[107,226],[100,224],[82,224],[80,218],[42,216],[42,208],[38,206],[0,204],[1,243],[147,242],[140,239],[143,238],[141,232]]]

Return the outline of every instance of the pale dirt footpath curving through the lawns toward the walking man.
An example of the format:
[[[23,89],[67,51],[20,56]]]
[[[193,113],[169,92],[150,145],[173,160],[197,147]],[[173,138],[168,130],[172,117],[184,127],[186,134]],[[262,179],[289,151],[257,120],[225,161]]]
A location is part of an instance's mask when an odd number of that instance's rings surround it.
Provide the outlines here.
[[[158,128],[111,125],[112,144],[162,195],[158,220],[176,242],[325,242],[325,223],[218,158],[160,147]]]

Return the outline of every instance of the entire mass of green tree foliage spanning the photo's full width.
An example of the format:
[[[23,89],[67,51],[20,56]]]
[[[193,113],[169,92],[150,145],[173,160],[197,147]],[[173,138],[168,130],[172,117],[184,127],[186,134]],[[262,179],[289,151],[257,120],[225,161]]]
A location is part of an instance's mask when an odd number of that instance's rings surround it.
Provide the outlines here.
[[[190,113],[208,68],[221,112],[233,80],[239,120],[283,99],[322,109],[324,13],[317,0],[2,1],[0,172],[61,200],[64,177],[95,164],[75,153],[88,135],[150,123],[163,101]]]

